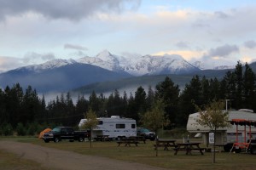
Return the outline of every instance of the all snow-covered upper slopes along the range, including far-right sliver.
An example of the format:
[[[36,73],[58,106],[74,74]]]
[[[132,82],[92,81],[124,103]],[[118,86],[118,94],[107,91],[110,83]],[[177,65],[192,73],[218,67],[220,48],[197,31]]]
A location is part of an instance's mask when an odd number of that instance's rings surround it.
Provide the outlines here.
[[[203,63],[196,61],[190,64],[183,59],[182,56],[177,54],[165,54],[165,55],[129,55],[119,56],[108,52],[108,50],[102,51],[102,53],[96,54],[94,57],[85,56],[80,59],[54,59],[40,65],[28,65],[21,67],[20,69],[27,69],[30,71],[44,71],[53,68],[58,68],[63,65],[73,64],[87,64],[101,67],[108,71],[114,71],[118,73],[128,73],[132,76],[143,75],[160,75],[160,74],[185,74],[193,73],[195,71],[204,70]],[[235,66],[218,66],[213,70],[232,69]]]

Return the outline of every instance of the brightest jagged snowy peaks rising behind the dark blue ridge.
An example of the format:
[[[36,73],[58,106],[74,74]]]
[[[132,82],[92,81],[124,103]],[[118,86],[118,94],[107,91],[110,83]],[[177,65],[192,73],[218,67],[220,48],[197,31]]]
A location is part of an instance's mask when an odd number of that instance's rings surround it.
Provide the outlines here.
[[[197,67],[189,64],[180,55],[141,57],[124,57],[113,55],[107,50],[95,57],[84,57],[77,60],[80,63],[100,66],[109,71],[125,71],[133,76],[157,75],[157,74],[182,74],[191,71],[199,71]]]

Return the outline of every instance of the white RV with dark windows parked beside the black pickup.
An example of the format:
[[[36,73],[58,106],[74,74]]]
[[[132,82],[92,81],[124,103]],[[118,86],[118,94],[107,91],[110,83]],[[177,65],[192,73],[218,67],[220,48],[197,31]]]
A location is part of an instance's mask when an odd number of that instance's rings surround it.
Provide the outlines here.
[[[119,116],[99,117],[98,125],[92,130],[92,138],[101,135],[108,135],[108,138],[124,138],[137,135],[136,120],[131,118],[120,118]],[[81,119],[81,127],[86,119]]]

